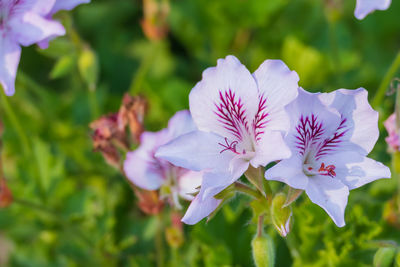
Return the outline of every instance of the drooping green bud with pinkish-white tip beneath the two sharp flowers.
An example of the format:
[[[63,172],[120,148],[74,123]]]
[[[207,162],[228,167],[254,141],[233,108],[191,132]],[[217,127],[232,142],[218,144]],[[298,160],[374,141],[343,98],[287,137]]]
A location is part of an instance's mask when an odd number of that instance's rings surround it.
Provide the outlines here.
[[[278,230],[279,234],[286,237],[291,228],[292,209],[286,206],[285,194],[279,193],[272,200],[271,218],[272,224]]]

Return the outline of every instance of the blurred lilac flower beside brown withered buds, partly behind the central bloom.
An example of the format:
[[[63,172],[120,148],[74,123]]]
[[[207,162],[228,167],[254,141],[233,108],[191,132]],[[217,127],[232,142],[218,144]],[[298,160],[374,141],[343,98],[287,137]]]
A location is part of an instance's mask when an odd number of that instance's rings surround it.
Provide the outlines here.
[[[156,158],[156,150],[179,135],[191,132],[196,127],[189,111],[177,112],[169,121],[168,128],[159,132],[144,132],[138,149],[128,152],[124,162],[124,171],[128,179],[138,187],[156,190],[172,196],[172,203],[180,208],[178,195],[192,200],[200,186],[202,173],[173,166],[169,162]]]

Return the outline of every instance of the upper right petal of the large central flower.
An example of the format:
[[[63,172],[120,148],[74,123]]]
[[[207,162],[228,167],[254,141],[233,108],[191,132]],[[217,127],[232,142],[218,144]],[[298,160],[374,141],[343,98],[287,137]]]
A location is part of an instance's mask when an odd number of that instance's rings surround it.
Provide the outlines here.
[[[290,71],[281,60],[264,61],[253,76],[260,97],[266,100],[266,128],[288,131],[289,118],[283,108],[297,97],[299,76],[295,71]]]

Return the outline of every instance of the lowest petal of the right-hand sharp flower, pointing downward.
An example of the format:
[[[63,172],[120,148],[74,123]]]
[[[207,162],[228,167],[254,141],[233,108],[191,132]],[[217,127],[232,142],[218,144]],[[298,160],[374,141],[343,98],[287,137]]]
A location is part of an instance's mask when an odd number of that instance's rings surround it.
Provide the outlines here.
[[[323,208],[339,227],[345,225],[344,211],[349,189],[337,179],[328,176],[313,176],[309,179],[306,193],[310,200]]]

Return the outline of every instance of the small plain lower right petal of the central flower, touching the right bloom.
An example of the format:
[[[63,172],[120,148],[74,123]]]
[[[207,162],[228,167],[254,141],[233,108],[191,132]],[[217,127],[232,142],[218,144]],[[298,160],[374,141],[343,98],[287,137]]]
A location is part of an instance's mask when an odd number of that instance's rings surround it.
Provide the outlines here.
[[[250,160],[255,168],[266,166],[272,161],[287,159],[292,154],[283,141],[282,133],[278,131],[266,131],[257,144],[256,156]]]

